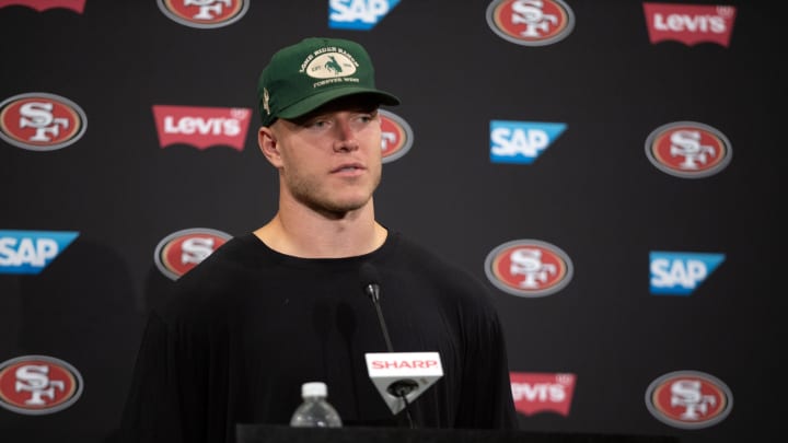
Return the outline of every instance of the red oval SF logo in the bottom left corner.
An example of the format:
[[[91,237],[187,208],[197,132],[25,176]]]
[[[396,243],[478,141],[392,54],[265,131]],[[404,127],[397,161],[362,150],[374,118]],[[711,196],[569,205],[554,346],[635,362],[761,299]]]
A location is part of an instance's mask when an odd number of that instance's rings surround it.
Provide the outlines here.
[[[82,395],[82,375],[69,363],[25,355],[0,363],[0,406],[26,416],[57,412]]]

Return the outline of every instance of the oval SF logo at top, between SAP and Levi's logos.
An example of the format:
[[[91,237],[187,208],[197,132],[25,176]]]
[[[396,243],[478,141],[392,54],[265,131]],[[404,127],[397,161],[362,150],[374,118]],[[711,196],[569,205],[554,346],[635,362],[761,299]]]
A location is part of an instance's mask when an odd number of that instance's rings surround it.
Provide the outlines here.
[[[499,37],[523,46],[560,42],[575,27],[575,14],[561,0],[494,0],[487,25]]]

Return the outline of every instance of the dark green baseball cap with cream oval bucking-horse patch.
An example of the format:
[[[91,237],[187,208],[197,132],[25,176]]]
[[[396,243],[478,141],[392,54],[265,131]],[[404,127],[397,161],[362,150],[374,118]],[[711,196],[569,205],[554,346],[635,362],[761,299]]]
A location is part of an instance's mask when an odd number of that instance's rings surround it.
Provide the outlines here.
[[[257,83],[263,126],[300,117],[351,94],[373,96],[383,105],[399,104],[395,95],[375,88],[367,50],[341,38],[309,37],[278,50]]]

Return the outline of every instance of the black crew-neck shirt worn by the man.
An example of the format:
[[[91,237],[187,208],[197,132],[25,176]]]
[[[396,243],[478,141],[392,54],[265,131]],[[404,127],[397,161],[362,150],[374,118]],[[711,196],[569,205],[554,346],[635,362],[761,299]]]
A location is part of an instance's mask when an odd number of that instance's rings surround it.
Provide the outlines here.
[[[487,289],[401,234],[351,258],[302,259],[235,237],[183,276],[144,330],[123,433],[232,442],[236,423],[287,424],[323,381],[345,425],[408,425],[367,373],[386,352],[361,264],[379,273],[397,352],[436,351],[444,376],[412,405],[419,428],[517,427],[501,326]]]

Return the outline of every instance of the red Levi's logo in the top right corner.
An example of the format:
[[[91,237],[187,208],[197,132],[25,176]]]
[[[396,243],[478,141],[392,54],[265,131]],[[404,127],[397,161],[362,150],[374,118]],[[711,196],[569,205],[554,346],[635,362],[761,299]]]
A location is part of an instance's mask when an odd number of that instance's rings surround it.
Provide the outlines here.
[[[651,44],[676,40],[687,46],[703,42],[728,47],[735,7],[644,3]]]

